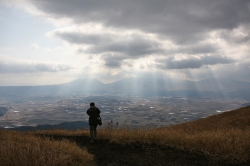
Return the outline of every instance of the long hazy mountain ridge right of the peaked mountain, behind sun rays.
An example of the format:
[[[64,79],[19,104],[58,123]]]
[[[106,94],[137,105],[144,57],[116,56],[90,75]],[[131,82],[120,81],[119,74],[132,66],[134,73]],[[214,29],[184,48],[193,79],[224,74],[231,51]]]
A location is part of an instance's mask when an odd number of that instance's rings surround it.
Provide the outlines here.
[[[237,81],[230,78],[209,78],[200,81],[181,79],[151,79],[126,78],[107,84],[109,92],[125,94],[162,94],[179,93],[231,93],[235,91],[249,91],[250,82]]]

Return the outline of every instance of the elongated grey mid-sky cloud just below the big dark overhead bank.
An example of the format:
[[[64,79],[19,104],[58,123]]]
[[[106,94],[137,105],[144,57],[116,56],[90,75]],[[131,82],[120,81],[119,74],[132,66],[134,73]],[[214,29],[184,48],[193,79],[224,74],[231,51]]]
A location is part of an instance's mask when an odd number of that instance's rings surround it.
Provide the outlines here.
[[[90,54],[112,52],[133,58],[163,52],[159,42],[139,34],[115,36],[107,33],[97,35],[55,31],[53,35],[70,43],[90,45],[90,48],[85,50]],[[83,53],[84,50],[79,49],[77,52]]]

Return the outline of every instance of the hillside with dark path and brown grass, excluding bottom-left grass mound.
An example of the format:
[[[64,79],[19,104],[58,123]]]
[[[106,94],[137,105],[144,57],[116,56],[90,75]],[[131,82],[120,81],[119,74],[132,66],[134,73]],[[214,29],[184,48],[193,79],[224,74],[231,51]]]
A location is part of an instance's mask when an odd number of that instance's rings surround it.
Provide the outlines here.
[[[95,144],[89,142],[88,130],[24,134],[74,142],[101,166],[250,165],[249,122],[250,106],[172,127],[99,129]]]

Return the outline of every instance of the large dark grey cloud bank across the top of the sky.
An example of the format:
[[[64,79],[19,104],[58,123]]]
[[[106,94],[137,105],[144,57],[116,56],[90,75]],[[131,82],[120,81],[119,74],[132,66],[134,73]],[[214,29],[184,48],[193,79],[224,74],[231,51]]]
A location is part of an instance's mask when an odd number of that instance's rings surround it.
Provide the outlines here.
[[[98,22],[108,27],[139,29],[177,43],[192,43],[217,29],[249,23],[249,0],[43,0],[31,1],[55,18],[76,23]]]

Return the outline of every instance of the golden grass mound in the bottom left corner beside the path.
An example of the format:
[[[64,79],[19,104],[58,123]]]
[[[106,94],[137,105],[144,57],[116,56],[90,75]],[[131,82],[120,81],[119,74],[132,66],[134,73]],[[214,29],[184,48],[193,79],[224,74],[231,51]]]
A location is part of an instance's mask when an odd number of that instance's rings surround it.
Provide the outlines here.
[[[67,140],[51,141],[24,133],[0,130],[0,165],[93,165],[93,155]]]

